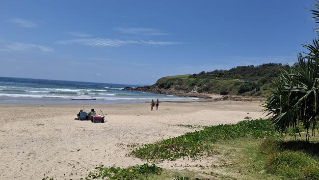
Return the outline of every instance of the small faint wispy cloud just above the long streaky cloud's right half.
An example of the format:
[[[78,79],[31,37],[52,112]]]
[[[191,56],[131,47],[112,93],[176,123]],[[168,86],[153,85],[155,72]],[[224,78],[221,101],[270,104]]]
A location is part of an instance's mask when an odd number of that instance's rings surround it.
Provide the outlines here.
[[[114,28],[114,30],[120,31],[122,33],[127,34],[135,34],[135,35],[167,35],[168,33],[164,33],[161,30],[153,29],[153,28]]]

